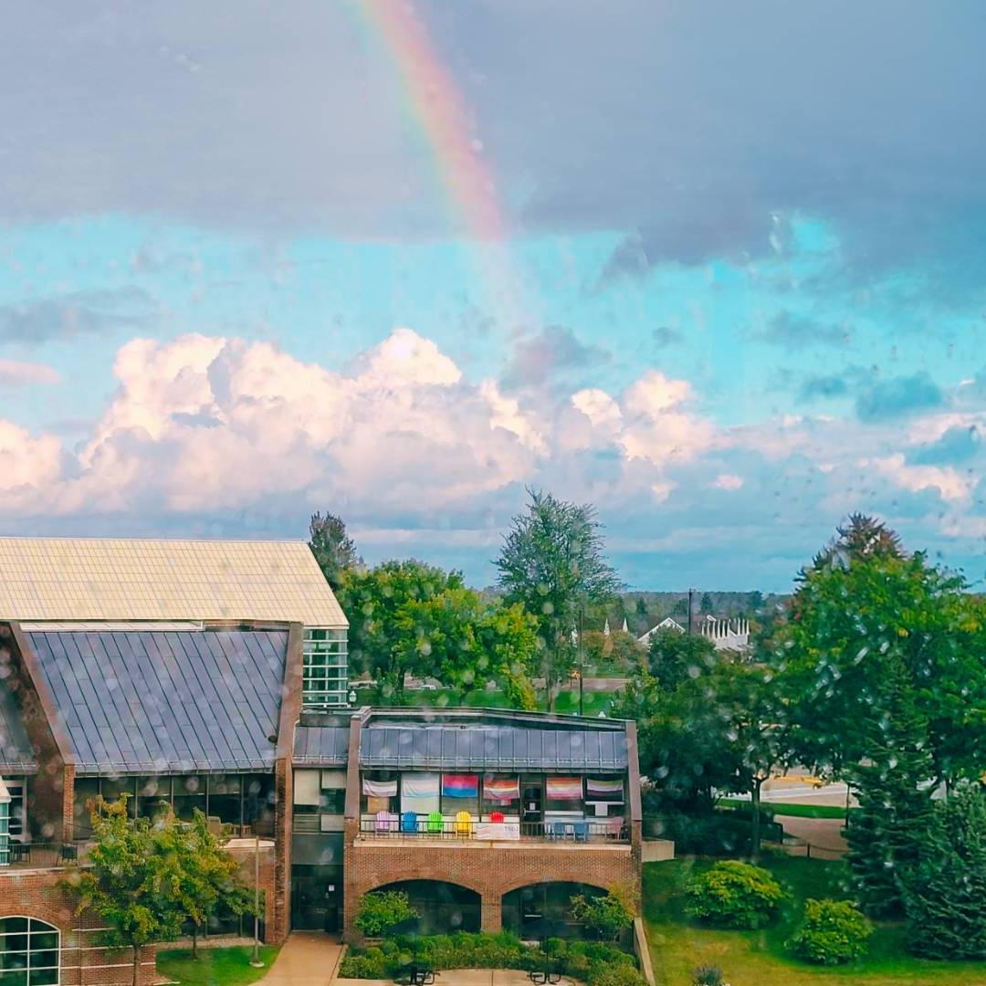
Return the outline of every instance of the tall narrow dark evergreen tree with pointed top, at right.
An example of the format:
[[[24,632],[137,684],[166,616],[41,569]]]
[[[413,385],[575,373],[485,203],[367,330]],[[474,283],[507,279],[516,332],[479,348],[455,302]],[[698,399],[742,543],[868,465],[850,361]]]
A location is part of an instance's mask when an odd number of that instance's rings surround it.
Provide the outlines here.
[[[905,670],[890,669],[885,701],[867,723],[867,754],[849,771],[859,801],[846,830],[849,866],[864,910],[902,911],[902,881],[920,857],[931,821],[934,776],[927,722],[918,713]]]

